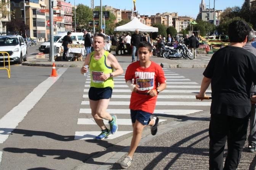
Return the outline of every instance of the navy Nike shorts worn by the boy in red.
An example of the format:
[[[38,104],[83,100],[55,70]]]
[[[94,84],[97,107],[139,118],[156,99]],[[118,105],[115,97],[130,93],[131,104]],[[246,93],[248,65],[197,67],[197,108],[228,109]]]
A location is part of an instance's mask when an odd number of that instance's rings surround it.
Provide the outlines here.
[[[142,110],[131,110],[131,122],[135,123],[136,120],[143,125],[148,125],[150,122],[150,116],[152,114]]]

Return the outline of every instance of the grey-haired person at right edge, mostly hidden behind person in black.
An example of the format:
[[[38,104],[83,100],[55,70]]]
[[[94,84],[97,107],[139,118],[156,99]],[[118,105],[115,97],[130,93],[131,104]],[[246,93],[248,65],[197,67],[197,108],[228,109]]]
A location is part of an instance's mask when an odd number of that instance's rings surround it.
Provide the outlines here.
[[[246,49],[247,51],[251,52],[254,54],[254,56],[256,57],[256,48],[254,48],[253,46],[251,46],[251,43],[254,40],[254,36],[255,36],[255,32],[253,29],[251,29],[248,37],[247,37],[247,43],[245,44],[245,46],[243,47],[244,49]],[[253,85],[251,87],[251,96],[256,95],[256,86]],[[256,151],[256,106],[255,103],[251,104],[251,116],[250,116],[250,133],[248,136],[248,149],[247,151],[249,152],[255,152]]]

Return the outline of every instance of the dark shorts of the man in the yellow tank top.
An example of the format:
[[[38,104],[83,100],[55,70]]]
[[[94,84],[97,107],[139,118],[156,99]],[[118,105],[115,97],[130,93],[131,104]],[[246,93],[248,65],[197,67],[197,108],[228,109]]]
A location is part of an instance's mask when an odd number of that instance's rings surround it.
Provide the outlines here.
[[[90,87],[88,96],[90,100],[101,100],[111,98],[113,89],[111,87],[96,88]]]

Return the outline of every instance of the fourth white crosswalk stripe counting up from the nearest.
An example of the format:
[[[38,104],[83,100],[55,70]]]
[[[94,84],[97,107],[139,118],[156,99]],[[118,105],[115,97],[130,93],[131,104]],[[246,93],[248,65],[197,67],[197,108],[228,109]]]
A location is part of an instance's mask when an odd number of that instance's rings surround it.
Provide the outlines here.
[[[90,105],[89,101],[82,101],[81,105]],[[130,105],[130,102],[110,101],[109,105]],[[211,102],[158,102],[157,106],[211,106]]]

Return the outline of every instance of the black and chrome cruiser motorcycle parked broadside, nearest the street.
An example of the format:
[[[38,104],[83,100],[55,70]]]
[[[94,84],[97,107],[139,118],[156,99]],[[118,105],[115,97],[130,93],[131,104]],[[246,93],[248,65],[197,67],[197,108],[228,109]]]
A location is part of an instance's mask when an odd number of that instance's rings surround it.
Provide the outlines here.
[[[176,48],[171,48],[171,49],[165,49],[162,52],[163,58],[181,58],[183,57],[184,59],[189,58],[190,60],[194,59],[194,56],[192,52],[189,51],[187,46],[184,44],[183,40],[179,41],[179,44]]]

